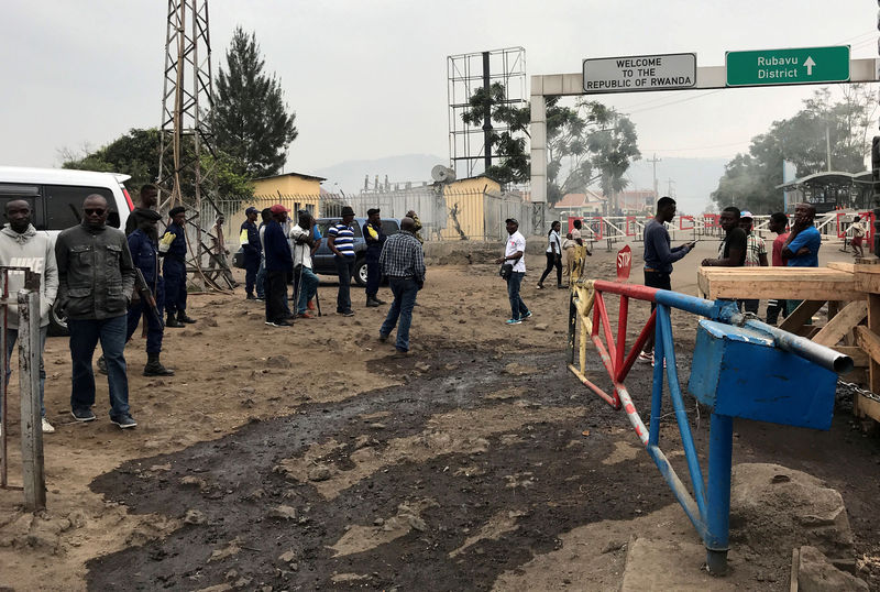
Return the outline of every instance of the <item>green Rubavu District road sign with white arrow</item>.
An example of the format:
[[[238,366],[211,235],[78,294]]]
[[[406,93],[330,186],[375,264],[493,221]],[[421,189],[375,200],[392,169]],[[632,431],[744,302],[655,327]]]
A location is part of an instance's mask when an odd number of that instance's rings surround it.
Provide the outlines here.
[[[727,52],[727,86],[812,85],[849,80],[849,45]]]

